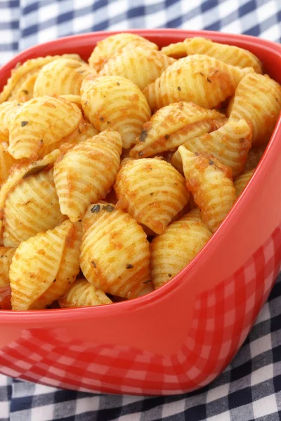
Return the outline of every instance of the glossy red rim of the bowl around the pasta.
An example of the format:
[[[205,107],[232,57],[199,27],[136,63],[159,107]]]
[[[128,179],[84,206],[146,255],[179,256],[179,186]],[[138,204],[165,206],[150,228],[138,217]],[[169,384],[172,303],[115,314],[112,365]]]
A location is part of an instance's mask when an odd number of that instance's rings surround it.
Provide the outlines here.
[[[209,37],[214,41],[219,41],[221,43],[231,43],[236,44],[237,42],[247,44],[248,46],[259,46],[267,51],[270,50],[273,53],[277,53],[280,55],[281,53],[281,46],[273,41],[268,41],[265,39],[259,39],[255,36],[244,35],[244,34],[226,34],[223,32],[216,32],[216,31],[188,31],[185,29],[127,29],[124,31],[100,31],[100,32],[89,32],[86,34],[78,34],[78,35],[71,35],[65,36],[59,39],[55,39],[53,41],[47,41],[42,44],[37,44],[36,46],[32,46],[27,48],[26,50],[22,51],[15,55],[14,58],[9,60],[3,67],[0,69],[0,76],[4,72],[15,67],[16,63],[20,60],[27,60],[27,57],[39,51],[42,47],[53,47],[59,46],[60,44],[71,43],[72,41],[90,41],[93,40],[93,44],[96,44],[97,41],[100,39],[105,38],[106,36],[119,34],[122,32],[130,32],[133,34],[139,34],[141,36],[159,36],[159,39],[163,38],[164,36],[180,36],[182,39],[187,37],[193,36],[204,36]],[[268,146],[259,161],[258,166],[256,167],[256,171],[254,172],[253,177],[249,181],[247,187],[244,189],[240,197],[235,202],[233,208],[231,208],[230,212],[226,216],[225,220],[221,223],[220,227],[218,227],[217,231],[211,236],[209,241],[205,244],[205,246],[200,250],[195,258],[185,266],[181,272],[179,272],[171,281],[165,283],[161,288],[148,293],[148,295],[143,295],[139,298],[133,298],[132,300],[126,300],[122,302],[115,302],[114,305],[100,305],[96,307],[74,307],[69,309],[46,309],[46,310],[27,310],[27,311],[20,311],[20,312],[13,312],[11,310],[0,310],[0,322],[2,323],[30,323],[36,324],[40,323],[40,325],[46,325],[49,323],[53,323],[55,321],[67,321],[71,319],[72,321],[76,321],[77,319],[92,319],[94,317],[103,317],[103,316],[114,316],[116,314],[120,314],[121,312],[130,312],[136,308],[144,307],[146,305],[151,305],[153,302],[161,300],[171,292],[171,290],[175,290],[178,286],[180,286],[181,282],[183,281],[183,276],[191,271],[195,265],[198,265],[200,260],[204,258],[204,256],[209,253],[211,250],[216,248],[216,245],[223,238],[224,233],[226,232],[226,227],[235,223],[235,220],[240,218],[242,213],[244,213],[245,208],[247,208],[247,202],[251,201],[251,197],[256,194],[256,191],[259,189],[259,183],[262,181],[263,176],[266,174],[268,170],[270,170],[271,163],[274,161],[275,154],[278,152],[278,142],[276,140],[277,134],[281,136],[281,114],[278,117],[277,123],[275,125],[275,129],[271,135],[270,141],[268,142]],[[266,163],[264,163],[266,161]],[[247,195],[244,198],[245,194]]]

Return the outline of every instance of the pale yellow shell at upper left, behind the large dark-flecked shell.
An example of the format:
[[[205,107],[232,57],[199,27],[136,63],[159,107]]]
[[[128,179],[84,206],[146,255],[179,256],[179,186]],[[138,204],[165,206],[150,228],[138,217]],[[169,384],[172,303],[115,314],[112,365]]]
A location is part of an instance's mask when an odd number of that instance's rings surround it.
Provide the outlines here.
[[[41,68],[34,84],[34,97],[44,95],[80,95],[82,81],[87,74],[97,75],[94,69],[78,60],[58,58]]]

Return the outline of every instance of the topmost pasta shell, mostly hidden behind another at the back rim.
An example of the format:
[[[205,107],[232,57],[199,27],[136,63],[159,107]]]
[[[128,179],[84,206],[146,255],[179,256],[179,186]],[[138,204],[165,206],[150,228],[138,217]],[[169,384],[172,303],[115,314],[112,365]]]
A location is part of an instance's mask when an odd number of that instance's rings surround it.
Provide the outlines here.
[[[158,50],[156,44],[143,38],[143,36],[123,32],[122,34],[107,36],[107,38],[102,41],[98,41],[89,58],[89,65],[93,69],[96,69],[97,72],[100,72],[100,69],[103,68],[103,65],[105,65],[112,55],[130,43],[133,43],[134,45],[136,45],[136,43],[141,45],[145,44],[145,48]]]

